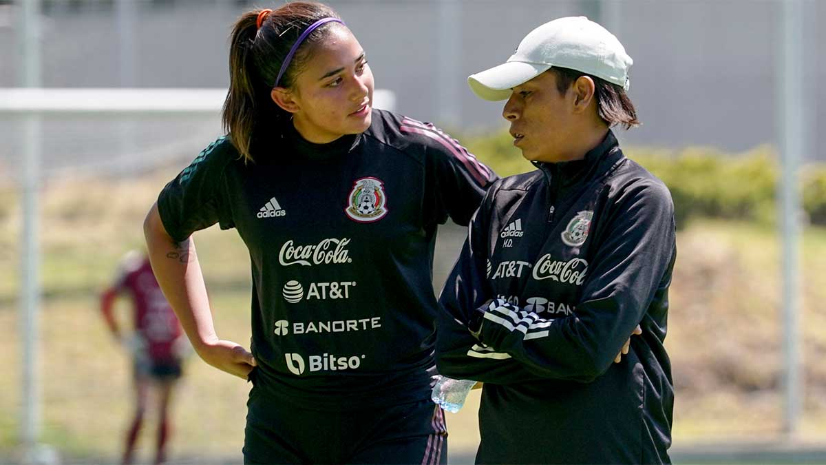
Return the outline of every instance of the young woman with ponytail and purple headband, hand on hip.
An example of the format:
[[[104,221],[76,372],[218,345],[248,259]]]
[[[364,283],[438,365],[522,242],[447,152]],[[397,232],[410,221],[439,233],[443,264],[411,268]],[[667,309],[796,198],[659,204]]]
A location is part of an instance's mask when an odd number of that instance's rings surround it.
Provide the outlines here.
[[[248,12],[230,46],[228,134],[166,185],[145,233],[197,353],[253,383],[245,463],[444,462],[434,237],[496,176],[372,108],[367,57],[329,7]],[[249,248],[250,352],[213,327],[191,235],[214,223]]]

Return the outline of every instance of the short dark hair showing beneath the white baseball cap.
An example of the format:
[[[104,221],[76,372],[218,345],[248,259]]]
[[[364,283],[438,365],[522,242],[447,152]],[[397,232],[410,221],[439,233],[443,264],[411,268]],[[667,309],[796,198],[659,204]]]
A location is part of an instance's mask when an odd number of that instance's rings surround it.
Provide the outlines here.
[[[623,126],[625,129],[639,126],[640,122],[637,119],[637,110],[634,108],[634,103],[628,98],[625,89],[617,84],[612,84],[605,79],[597,78],[591,74],[583,73],[582,71],[570,70],[568,68],[551,68],[557,75],[557,89],[559,93],[567,92],[567,89],[579,79],[581,76],[588,76],[594,80],[596,87],[596,113],[600,115],[608,127],[613,127],[617,124]]]

